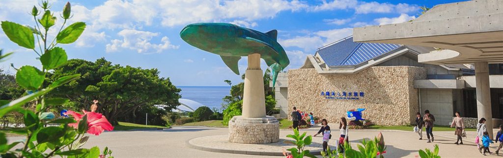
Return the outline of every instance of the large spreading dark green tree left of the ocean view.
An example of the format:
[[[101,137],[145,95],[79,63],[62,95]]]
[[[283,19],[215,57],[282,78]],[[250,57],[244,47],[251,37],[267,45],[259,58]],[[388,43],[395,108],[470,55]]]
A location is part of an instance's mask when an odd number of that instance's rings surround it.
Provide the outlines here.
[[[157,69],[113,65],[103,58],[96,62],[72,59],[55,69],[50,78],[66,74],[81,74],[81,77],[58,87],[52,94],[70,99],[74,108],[89,109],[92,100],[100,100],[98,112],[112,123],[120,119],[135,120],[138,110],[151,111],[148,109],[154,105],[163,105],[158,107],[165,111],[180,105],[180,89],[169,78],[159,77]]]

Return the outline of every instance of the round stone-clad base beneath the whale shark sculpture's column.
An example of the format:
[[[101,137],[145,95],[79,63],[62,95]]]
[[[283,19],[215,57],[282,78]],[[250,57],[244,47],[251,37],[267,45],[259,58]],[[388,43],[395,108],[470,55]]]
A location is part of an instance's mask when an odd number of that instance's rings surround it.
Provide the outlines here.
[[[280,140],[279,121],[272,116],[244,118],[234,116],[229,121],[229,141],[245,144],[273,143]]]

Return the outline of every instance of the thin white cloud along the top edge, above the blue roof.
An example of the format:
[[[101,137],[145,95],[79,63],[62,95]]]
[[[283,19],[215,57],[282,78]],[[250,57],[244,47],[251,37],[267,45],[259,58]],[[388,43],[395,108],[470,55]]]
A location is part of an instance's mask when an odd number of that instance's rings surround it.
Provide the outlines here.
[[[419,7],[417,5],[408,4],[398,4],[393,5],[389,3],[378,3],[378,2],[363,2],[355,8],[356,14],[368,14],[368,13],[409,13],[417,11]]]

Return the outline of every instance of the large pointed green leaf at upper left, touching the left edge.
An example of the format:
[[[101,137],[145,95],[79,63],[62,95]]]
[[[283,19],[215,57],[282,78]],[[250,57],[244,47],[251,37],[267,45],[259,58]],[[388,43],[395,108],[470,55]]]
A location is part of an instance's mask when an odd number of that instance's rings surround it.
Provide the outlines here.
[[[35,38],[33,37],[33,31],[30,28],[13,22],[3,21],[2,29],[12,42],[24,48],[35,48]]]

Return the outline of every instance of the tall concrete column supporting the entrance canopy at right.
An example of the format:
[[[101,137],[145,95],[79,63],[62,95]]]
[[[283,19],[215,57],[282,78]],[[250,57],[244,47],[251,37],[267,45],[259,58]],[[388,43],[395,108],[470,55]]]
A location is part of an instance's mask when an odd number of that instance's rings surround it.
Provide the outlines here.
[[[475,63],[475,85],[477,86],[477,115],[487,121],[487,132],[492,139],[491,92],[489,87],[489,66],[487,62]]]

